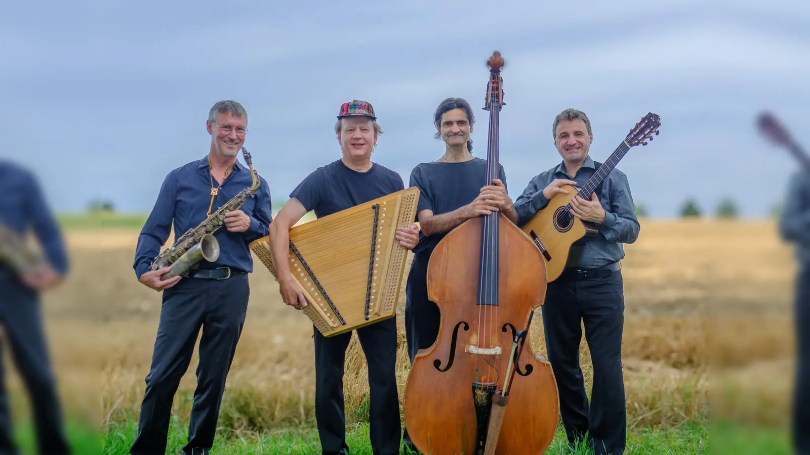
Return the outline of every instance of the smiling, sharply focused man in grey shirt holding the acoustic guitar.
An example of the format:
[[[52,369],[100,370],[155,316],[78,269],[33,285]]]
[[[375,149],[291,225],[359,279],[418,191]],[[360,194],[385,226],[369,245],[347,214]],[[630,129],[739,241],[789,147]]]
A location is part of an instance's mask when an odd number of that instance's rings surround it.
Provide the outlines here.
[[[588,156],[593,134],[585,113],[565,109],[552,125],[554,145],[562,163],[531,179],[514,202],[518,226],[528,223],[556,194],[569,193],[564,185],[582,187],[601,164]],[[583,247],[578,263],[550,279],[542,307],[548,359],[560,393],[560,410],[569,444],[583,440],[597,454],[619,455],[625,450],[625,382],[621,371],[621,337],[625,298],[619,261],[622,244],[632,244],[640,229],[627,176],[612,169],[590,198],[573,198],[570,215],[594,223],[598,234]],[[551,227],[548,227],[551,228]],[[580,321],[593,362],[590,410],[579,344]]]

